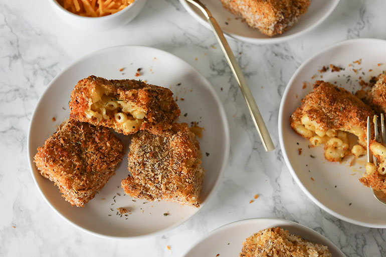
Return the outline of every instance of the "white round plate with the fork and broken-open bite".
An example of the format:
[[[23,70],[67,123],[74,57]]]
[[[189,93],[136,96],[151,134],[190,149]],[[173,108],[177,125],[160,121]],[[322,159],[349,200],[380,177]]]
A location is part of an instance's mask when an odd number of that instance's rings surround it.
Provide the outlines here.
[[[360,59],[360,65],[354,63]],[[327,47],[297,69],[284,91],[279,110],[280,146],[287,167],[303,192],[337,218],[379,228],[386,228],[386,206],[377,202],[372,190],[358,181],[364,173],[365,156],[356,160],[351,167],[351,159],[342,163],[328,162],[324,158],[323,147],[308,148],[309,140],[291,129],[289,118],[300,106],[301,99],[312,90],[316,80],[336,82],[351,93],[356,92],[360,89],[358,81],[368,82],[372,76],[386,69],[385,60],[386,41],[383,40],[355,39]],[[344,67],[345,70],[318,72],[330,64]],[[305,89],[304,82],[307,83]],[[301,155],[299,148],[302,149]]]

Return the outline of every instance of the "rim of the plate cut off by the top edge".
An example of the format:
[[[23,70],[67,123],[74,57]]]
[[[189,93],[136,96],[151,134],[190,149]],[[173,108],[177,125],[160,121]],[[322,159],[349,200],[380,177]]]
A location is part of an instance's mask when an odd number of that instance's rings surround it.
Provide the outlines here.
[[[281,37],[281,38],[272,37],[272,38],[268,38],[268,39],[255,39],[255,38],[250,38],[250,37],[238,36],[236,34],[228,33],[228,32],[225,32],[225,31],[223,31],[223,33],[228,38],[231,38],[231,39],[234,39],[234,40],[239,40],[239,41],[244,41],[244,42],[248,42],[248,43],[256,44],[256,45],[269,45],[269,44],[283,43],[283,42],[292,40],[294,38],[300,37],[302,35],[305,35],[305,34],[311,32],[312,30],[314,30],[320,24],[322,24],[331,15],[331,13],[336,9],[337,5],[340,2],[340,0],[332,0],[332,1],[334,1],[334,3],[331,6],[331,8],[316,23],[314,23],[313,25],[307,27],[305,30],[299,31],[299,32],[297,32],[295,34],[291,34],[291,35],[284,36],[284,37]],[[207,29],[212,30],[211,25],[207,21],[202,19],[202,17],[200,17],[195,11],[193,11],[190,8],[189,4],[185,0],[179,0],[179,2],[181,3],[182,7],[185,9],[185,11],[191,17],[193,17],[200,24],[204,25]],[[260,31],[257,31],[257,32],[260,33]]]

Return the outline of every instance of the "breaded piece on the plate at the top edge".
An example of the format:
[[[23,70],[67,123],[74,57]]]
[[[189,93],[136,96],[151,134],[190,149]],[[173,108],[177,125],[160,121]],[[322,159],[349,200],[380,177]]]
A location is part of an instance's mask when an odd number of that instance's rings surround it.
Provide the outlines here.
[[[282,34],[306,13],[309,0],[221,0],[233,14],[268,36]]]

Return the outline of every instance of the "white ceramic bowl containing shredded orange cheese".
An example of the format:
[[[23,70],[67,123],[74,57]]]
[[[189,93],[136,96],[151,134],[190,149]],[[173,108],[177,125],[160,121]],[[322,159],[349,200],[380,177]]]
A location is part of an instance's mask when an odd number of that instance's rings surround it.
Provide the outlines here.
[[[87,31],[107,31],[122,26],[133,20],[145,6],[147,0],[135,0],[134,3],[115,14],[103,17],[83,17],[64,9],[56,0],[49,0],[55,13],[66,23]]]

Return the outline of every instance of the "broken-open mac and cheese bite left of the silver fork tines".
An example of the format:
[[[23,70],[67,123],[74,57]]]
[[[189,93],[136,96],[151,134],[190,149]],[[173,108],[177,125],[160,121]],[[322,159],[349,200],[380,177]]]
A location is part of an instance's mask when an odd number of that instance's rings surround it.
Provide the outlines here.
[[[290,123],[312,145],[325,144],[324,156],[328,161],[341,161],[350,153],[355,157],[364,154],[366,121],[371,115],[371,108],[344,88],[316,81],[313,91],[291,115]],[[351,151],[347,132],[358,137],[358,144]]]

